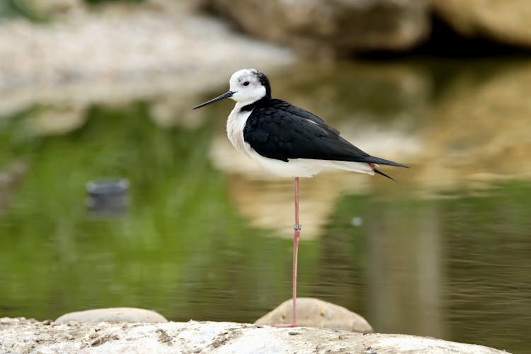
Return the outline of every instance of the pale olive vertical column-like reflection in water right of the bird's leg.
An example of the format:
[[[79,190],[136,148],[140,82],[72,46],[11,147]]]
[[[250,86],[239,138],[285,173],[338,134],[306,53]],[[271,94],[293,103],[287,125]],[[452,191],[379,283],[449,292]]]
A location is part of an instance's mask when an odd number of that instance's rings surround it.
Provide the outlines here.
[[[367,227],[372,318],[382,331],[404,321],[404,331],[446,338],[442,328],[442,239],[433,202],[371,211],[382,222]],[[392,271],[389,271],[392,270]]]

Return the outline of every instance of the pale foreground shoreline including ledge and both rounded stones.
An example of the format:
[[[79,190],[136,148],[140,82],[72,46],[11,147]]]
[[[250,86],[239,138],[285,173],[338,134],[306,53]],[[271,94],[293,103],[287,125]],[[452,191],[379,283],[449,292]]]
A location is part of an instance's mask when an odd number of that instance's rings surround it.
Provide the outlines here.
[[[254,324],[168,321],[157,312],[115,307],[71,312],[55,321],[0,318],[0,353],[506,353],[486,346],[373,333],[359,314],[299,298],[299,327],[287,300]]]

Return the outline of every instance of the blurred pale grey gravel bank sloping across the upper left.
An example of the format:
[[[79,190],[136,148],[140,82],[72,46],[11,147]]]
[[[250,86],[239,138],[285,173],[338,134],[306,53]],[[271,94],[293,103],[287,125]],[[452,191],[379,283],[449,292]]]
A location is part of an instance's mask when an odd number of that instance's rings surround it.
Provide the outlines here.
[[[232,72],[249,63],[273,72],[295,55],[234,33],[215,18],[152,4],[67,13],[46,25],[6,20],[0,58],[0,115],[10,115],[31,105],[84,108],[197,95],[225,87]],[[189,103],[184,109],[190,111]]]

